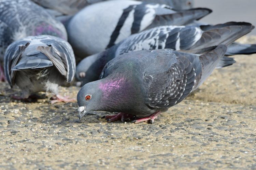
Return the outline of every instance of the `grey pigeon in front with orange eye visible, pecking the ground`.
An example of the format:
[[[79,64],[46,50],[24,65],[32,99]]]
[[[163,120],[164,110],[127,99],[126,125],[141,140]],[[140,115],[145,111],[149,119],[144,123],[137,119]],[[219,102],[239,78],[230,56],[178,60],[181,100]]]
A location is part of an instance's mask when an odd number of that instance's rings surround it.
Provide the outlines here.
[[[219,45],[194,50],[201,54],[158,49],[115,57],[105,65],[100,80],[78,92],[79,119],[90,111],[106,111],[118,112],[105,116],[107,122],[138,116],[132,122],[153,123],[161,112],[197,89],[215,67],[232,65],[233,58],[224,57],[226,50]]]

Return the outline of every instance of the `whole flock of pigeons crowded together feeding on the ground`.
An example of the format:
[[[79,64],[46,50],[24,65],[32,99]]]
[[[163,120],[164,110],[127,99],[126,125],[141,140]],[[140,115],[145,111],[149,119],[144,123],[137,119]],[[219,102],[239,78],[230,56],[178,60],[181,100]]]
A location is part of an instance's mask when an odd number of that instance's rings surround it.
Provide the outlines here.
[[[0,79],[30,101],[77,101],[79,119],[117,112],[107,122],[151,123],[185,99],[230,55],[256,53],[234,42],[247,22],[201,23],[208,8],[193,0],[1,0]],[[81,86],[77,99],[59,86]]]

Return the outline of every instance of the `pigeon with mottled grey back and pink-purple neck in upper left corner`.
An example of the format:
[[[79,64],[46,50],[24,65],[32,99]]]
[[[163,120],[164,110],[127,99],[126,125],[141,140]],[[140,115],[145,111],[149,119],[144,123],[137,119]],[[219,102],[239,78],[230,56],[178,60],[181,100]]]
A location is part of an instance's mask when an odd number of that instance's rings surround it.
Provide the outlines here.
[[[0,62],[6,48],[27,36],[48,34],[67,40],[62,23],[49,15],[43,7],[29,0],[1,0],[0,3]],[[4,78],[0,65],[0,79]]]

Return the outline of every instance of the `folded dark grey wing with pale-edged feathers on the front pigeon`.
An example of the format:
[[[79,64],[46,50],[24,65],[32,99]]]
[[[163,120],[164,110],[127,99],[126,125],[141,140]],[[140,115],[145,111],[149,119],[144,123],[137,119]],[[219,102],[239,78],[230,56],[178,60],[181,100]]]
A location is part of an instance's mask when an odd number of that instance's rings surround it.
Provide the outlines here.
[[[168,53],[165,53],[168,54]],[[161,54],[159,54],[161,55]],[[188,58],[186,55],[191,55]],[[183,53],[179,56],[170,53],[174,62],[167,70],[155,72],[149,69],[144,75],[144,87],[148,89],[147,105],[153,108],[168,108],[181,102],[193,90],[196,82],[196,72],[200,72],[200,62],[193,54]],[[190,60],[191,59],[191,60]],[[159,67],[161,57],[154,65]],[[199,68],[197,68],[199,67]]]

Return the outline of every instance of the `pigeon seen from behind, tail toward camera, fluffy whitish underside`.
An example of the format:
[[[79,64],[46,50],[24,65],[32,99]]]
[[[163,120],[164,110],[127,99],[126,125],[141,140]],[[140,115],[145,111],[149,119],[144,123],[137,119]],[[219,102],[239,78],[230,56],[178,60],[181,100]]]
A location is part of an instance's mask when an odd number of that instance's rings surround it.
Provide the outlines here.
[[[58,86],[68,86],[75,75],[75,56],[70,44],[51,35],[28,36],[8,46],[4,56],[4,71],[11,87],[22,90],[23,100],[40,91],[55,95],[56,102],[70,102],[58,95]]]

